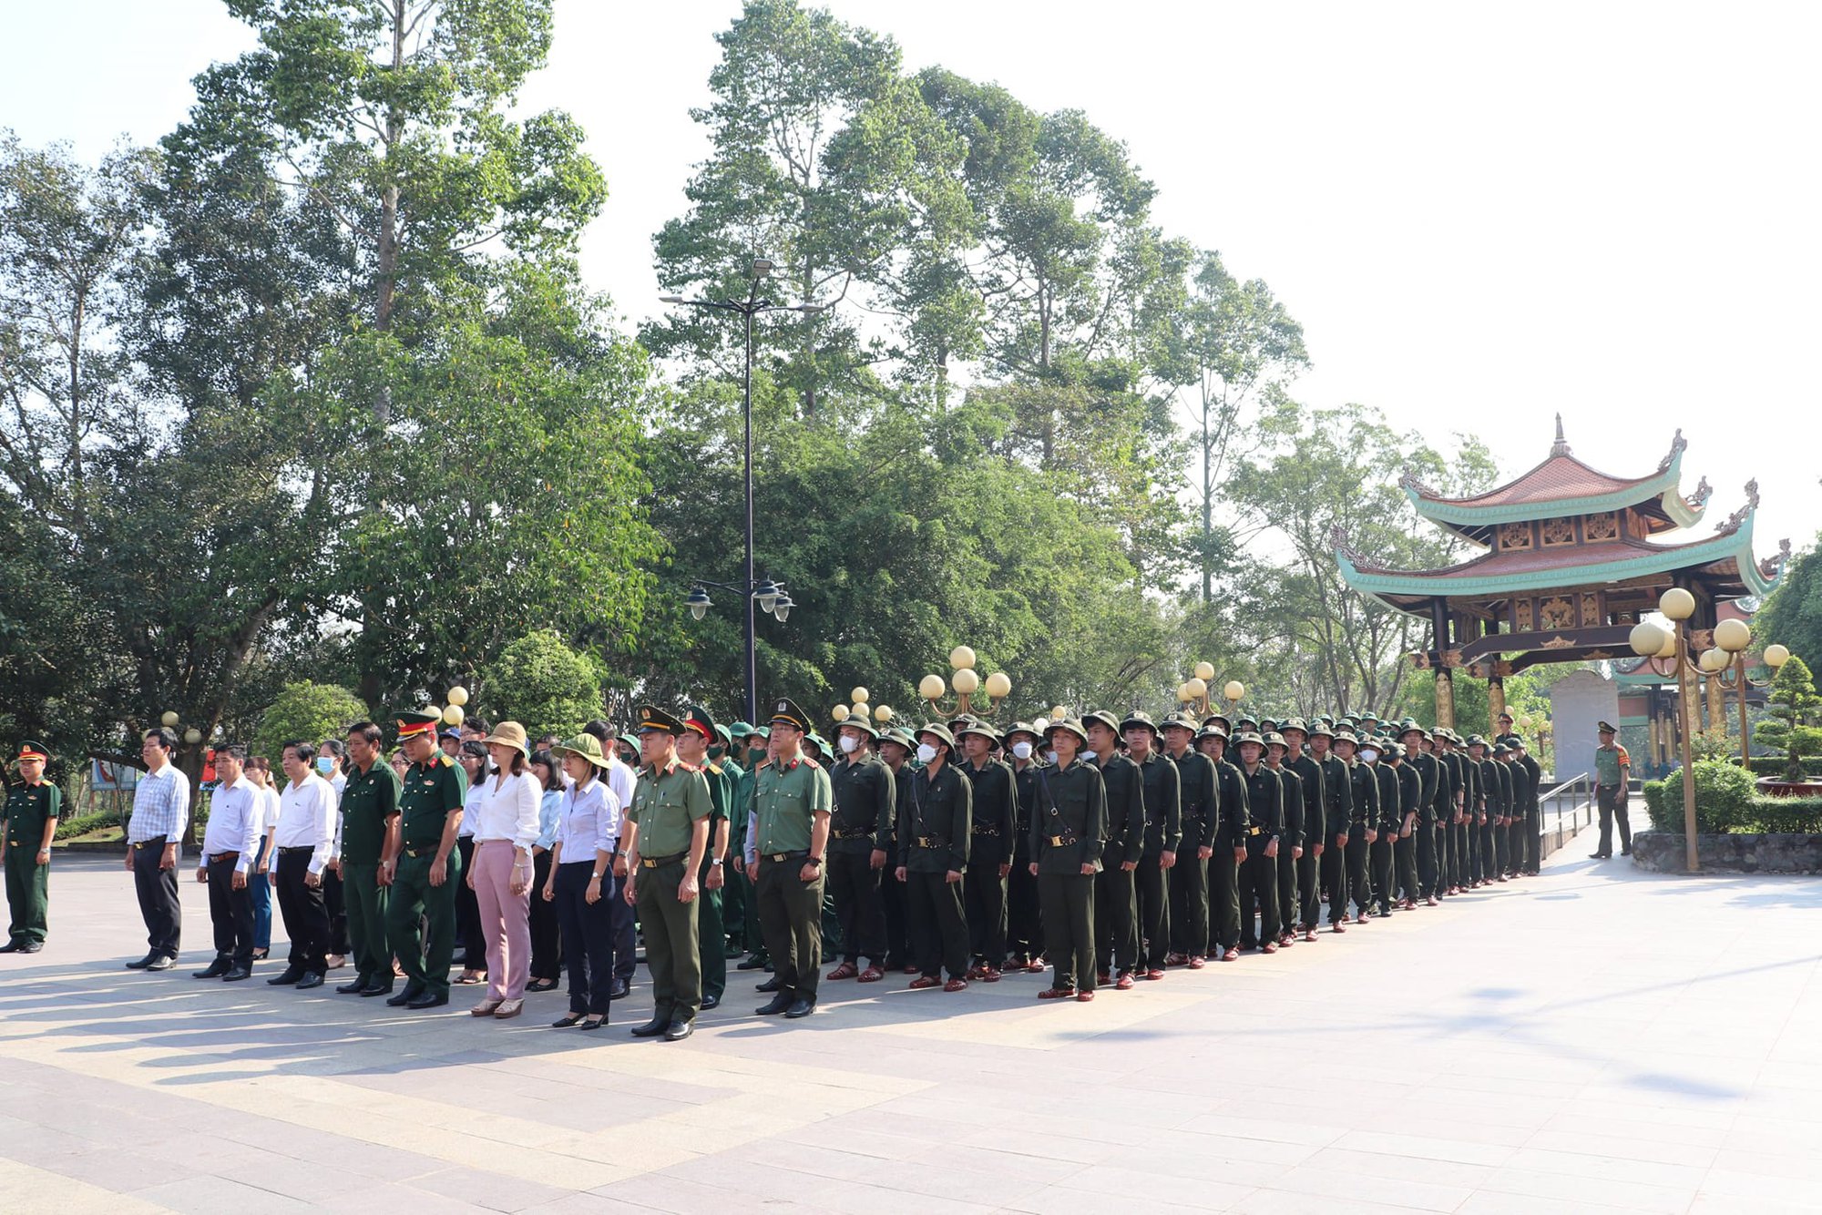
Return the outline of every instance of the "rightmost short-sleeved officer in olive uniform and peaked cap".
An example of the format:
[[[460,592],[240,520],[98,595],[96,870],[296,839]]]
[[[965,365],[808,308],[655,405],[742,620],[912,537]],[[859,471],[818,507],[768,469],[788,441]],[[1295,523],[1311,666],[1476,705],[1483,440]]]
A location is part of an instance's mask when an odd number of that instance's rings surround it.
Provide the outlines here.
[[[824,862],[834,792],[829,771],[804,754],[809,718],[789,699],[773,701],[773,761],[752,785],[752,842],[760,929],[773,955],[773,978],[760,984],[771,1004],[760,1016],[816,1011],[822,978]]]

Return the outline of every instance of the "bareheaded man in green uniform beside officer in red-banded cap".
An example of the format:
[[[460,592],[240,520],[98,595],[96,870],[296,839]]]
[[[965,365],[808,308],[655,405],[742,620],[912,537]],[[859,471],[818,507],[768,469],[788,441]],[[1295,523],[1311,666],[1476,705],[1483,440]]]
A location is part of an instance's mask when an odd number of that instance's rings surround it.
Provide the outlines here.
[[[384,862],[399,854],[399,794],[404,785],[379,743],[372,721],[348,727],[348,783],[343,787],[343,896],[348,907],[348,944],[353,980],[341,995],[383,996],[392,991],[392,945],[386,944]]]

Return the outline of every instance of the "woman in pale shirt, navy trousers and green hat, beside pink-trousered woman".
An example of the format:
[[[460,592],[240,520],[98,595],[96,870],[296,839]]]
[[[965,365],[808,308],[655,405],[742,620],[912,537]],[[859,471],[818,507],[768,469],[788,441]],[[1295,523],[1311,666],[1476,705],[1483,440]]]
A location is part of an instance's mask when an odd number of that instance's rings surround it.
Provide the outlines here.
[[[570,973],[570,1011],[552,1029],[599,1029],[614,987],[612,878],[619,840],[619,798],[609,787],[601,740],[578,734],[552,754],[570,778],[563,791],[550,878],[543,896],[558,905],[563,964]],[[605,891],[605,893],[603,893]]]

